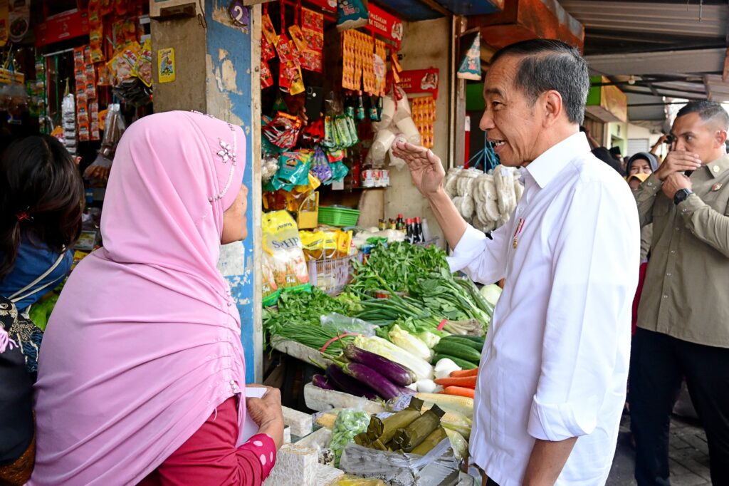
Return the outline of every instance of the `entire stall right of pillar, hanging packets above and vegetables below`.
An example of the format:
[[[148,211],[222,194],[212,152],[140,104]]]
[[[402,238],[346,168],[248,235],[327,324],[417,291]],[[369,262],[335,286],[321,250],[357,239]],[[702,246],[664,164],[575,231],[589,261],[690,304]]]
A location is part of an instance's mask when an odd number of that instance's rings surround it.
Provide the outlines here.
[[[402,69],[408,31],[374,2],[268,2],[261,23],[264,382],[322,427],[292,432],[295,445],[331,450],[331,462],[315,463],[359,477],[353,484],[457,480],[500,289],[451,274],[422,215],[368,198],[412,188],[409,176],[407,188],[392,185],[391,174],[408,172],[391,145],[434,147],[440,70]],[[492,231],[521,196],[515,179],[458,170],[448,188]],[[473,209],[486,198],[488,217]],[[269,481],[300,477],[277,467]]]

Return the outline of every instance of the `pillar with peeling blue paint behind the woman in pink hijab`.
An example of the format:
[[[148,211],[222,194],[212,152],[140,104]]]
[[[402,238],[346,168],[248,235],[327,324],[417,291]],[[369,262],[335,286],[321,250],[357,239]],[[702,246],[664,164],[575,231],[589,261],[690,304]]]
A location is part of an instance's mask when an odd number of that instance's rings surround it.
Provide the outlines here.
[[[246,133],[246,171],[249,188],[248,238],[222,247],[219,269],[230,282],[241,312],[241,341],[246,354],[246,382],[261,380],[262,326],[260,271],[260,112],[258,60],[260,29],[254,41],[253,23],[260,22],[260,7],[250,12],[250,25],[233,23],[227,9],[230,1],[206,0],[204,15],[152,20],[155,54],[155,112],[195,109],[243,127]],[[197,7],[200,9],[200,7]],[[157,50],[174,47],[176,80],[157,82]],[[243,155],[240,151],[238,155]]]

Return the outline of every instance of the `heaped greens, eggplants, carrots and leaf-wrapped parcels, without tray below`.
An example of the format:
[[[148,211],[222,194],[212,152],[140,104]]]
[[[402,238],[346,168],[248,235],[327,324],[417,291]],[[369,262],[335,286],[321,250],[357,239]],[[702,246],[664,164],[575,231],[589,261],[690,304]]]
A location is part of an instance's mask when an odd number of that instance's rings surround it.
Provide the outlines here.
[[[268,342],[295,341],[329,358],[312,379],[316,387],[394,410],[409,400],[389,417],[367,416],[364,427],[361,416],[340,413],[335,429],[342,430],[332,437],[337,458],[350,441],[425,455],[446,438],[463,457],[499,290],[479,290],[448,270],[443,250],[408,242],[377,242],[366,263],[353,268],[354,279],[337,297],[318,288],[282,293],[277,308],[264,310]]]

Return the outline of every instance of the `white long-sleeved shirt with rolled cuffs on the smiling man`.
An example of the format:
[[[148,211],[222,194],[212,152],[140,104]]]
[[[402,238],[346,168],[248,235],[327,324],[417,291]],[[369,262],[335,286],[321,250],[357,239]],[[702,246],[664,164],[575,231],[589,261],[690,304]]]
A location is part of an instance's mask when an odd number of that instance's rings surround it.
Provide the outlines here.
[[[493,241],[469,226],[449,258],[477,282],[506,279],[481,357],[472,458],[499,485],[521,485],[534,439],[577,436],[557,484],[603,485],[628,379],[636,204],[583,134],[523,177],[521,201]]]

